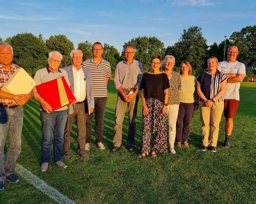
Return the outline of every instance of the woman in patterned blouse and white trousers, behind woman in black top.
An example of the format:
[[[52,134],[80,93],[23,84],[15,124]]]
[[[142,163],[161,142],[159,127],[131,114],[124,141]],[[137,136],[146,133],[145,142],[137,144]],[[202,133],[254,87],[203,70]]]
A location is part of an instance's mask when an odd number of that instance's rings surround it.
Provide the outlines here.
[[[176,122],[179,112],[179,91],[181,90],[181,78],[177,71],[173,71],[175,65],[175,57],[172,55],[166,55],[163,60],[164,73],[167,74],[169,80],[169,93],[168,93],[168,123],[169,123],[169,145],[170,153],[176,154],[174,149],[174,142],[176,136]],[[176,147],[180,148],[181,144],[177,143]]]

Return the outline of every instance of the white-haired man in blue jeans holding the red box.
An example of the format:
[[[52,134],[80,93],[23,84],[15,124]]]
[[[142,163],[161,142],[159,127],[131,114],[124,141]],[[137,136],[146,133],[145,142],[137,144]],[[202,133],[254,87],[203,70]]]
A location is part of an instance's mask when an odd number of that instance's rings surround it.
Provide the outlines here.
[[[70,85],[67,71],[59,69],[62,55],[57,51],[49,53],[48,66],[36,71],[34,80],[36,85],[49,82],[51,80],[65,77],[68,85]],[[42,127],[41,141],[41,171],[46,171],[51,162],[51,143],[54,136],[54,162],[59,168],[66,168],[62,159],[63,135],[67,121],[68,106],[64,106],[55,111],[52,107],[39,95],[36,88],[33,89],[34,98],[40,103],[40,119]],[[50,91],[50,90],[49,90]]]

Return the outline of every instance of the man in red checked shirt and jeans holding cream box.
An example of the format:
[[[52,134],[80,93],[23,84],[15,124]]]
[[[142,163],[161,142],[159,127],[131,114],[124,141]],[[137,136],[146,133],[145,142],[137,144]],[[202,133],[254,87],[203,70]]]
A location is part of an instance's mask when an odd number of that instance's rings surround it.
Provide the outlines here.
[[[33,96],[32,92],[15,95],[1,90],[12,74],[20,68],[12,63],[12,59],[12,46],[6,42],[0,43],[0,190],[4,189],[5,180],[11,183],[19,181],[13,172],[22,149],[23,105]],[[7,132],[9,132],[9,146],[4,160]]]

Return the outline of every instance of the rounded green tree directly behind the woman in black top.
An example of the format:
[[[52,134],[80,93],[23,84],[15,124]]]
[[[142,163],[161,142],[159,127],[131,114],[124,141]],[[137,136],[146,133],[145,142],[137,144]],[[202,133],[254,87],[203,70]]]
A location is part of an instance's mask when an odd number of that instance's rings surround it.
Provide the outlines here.
[[[126,44],[133,44],[135,47],[135,59],[143,64],[144,70],[148,71],[151,69],[151,58],[157,54],[164,54],[164,43],[156,37],[137,37],[131,39],[129,42],[124,43],[123,48]]]

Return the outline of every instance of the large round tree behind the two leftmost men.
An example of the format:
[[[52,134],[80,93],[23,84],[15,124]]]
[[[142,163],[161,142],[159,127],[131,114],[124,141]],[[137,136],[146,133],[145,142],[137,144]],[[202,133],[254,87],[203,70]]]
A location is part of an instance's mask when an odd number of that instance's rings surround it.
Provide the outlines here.
[[[47,65],[48,49],[46,44],[32,33],[17,34],[8,39],[13,48],[13,61],[28,72]]]

